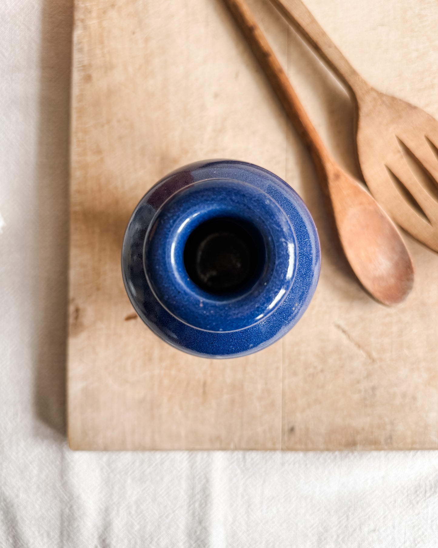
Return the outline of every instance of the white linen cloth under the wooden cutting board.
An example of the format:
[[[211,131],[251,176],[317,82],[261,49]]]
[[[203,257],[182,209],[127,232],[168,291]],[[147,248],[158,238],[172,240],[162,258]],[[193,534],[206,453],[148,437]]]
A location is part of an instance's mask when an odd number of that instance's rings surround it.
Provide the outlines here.
[[[71,3],[0,3],[0,547],[437,546],[438,452],[68,449]]]

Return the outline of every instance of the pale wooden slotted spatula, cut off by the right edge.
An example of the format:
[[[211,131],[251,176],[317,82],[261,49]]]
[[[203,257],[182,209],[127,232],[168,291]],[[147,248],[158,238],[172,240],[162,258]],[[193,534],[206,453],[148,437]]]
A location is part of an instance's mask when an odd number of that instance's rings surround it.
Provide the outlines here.
[[[360,168],[373,196],[407,232],[438,251],[438,122],[367,84],[301,0],[271,2],[347,85]]]

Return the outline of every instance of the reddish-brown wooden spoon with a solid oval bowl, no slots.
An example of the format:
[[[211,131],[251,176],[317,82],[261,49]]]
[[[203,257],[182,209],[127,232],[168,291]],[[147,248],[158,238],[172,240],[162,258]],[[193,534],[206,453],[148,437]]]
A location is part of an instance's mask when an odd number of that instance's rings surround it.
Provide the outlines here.
[[[412,289],[413,266],[394,223],[374,198],[330,157],[245,2],[224,1],[312,154],[345,256],[355,275],[384,304],[404,300]]]

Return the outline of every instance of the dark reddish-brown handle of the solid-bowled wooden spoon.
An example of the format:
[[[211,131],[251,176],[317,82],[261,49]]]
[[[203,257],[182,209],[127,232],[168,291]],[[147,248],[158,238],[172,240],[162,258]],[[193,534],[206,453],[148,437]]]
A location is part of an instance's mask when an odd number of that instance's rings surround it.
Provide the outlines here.
[[[312,154],[318,172],[322,169],[324,173],[331,158],[250,9],[244,0],[224,0],[224,3],[233,14],[298,135]]]

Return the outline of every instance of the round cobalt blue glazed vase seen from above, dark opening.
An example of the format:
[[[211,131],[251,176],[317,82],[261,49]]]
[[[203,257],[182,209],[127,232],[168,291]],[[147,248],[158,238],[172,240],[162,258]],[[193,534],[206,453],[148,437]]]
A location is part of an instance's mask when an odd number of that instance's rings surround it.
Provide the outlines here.
[[[143,322],[209,358],[280,339],[307,309],[319,269],[302,199],[266,169],[233,160],[186,165],[157,182],[122,248],[126,292]]]

